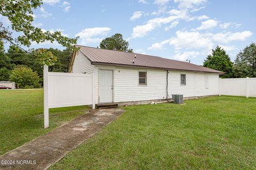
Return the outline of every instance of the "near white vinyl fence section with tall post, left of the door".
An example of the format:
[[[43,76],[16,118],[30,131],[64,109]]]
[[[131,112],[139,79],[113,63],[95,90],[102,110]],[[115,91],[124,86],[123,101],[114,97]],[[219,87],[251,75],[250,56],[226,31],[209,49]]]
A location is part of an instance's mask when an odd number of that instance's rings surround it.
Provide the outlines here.
[[[48,72],[44,66],[44,128],[49,127],[49,108],[92,105],[94,103],[94,73]]]

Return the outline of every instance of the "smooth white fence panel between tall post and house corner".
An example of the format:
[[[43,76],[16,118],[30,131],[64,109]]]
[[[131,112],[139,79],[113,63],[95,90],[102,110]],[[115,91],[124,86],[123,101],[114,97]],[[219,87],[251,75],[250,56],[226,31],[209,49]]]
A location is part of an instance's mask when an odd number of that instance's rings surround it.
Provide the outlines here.
[[[92,74],[49,72],[49,108],[92,105]]]

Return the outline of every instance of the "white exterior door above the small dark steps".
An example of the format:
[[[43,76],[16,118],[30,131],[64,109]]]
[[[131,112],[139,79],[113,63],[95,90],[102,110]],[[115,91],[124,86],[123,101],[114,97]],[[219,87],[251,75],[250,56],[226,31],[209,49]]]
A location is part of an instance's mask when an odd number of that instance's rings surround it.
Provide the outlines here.
[[[100,70],[99,79],[100,103],[113,102],[113,71]]]

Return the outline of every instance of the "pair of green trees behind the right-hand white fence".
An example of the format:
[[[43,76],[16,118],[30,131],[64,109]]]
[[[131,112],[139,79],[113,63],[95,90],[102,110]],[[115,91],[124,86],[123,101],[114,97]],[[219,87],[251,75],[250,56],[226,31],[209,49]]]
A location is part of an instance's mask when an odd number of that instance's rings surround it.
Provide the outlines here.
[[[236,60],[231,62],[226,51],[217,46],[212,49],[212,54],[204,60],[203,66],[225,72],[221,78],[246,78],[256,77],[256,44],[251,43],[236,55]]]

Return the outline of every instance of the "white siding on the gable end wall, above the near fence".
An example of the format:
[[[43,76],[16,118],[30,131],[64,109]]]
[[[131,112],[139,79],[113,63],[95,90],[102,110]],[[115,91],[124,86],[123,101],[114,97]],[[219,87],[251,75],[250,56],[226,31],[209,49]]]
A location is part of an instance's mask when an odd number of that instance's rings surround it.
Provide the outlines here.
[[[94,72],[94,65],[91,65],[91,62],[88,58],[78,50],[75,61],[73,64],[72,73],[92,73]]]

